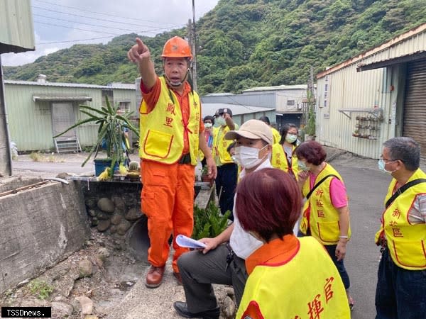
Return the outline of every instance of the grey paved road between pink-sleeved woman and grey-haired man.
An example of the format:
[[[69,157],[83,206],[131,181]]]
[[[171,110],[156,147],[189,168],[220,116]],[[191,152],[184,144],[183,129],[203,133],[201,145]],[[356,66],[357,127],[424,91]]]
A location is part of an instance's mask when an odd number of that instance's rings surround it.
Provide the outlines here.
[[[351,279],[351,294],[356,301],[352,318],[371,319],[376,315],[374,295],[380,256],[374,245],[374,235],[391,177],[378,169],[341,165],[338,161],[332,164],[342,175],[349,195],[352,239],[345,264]]]

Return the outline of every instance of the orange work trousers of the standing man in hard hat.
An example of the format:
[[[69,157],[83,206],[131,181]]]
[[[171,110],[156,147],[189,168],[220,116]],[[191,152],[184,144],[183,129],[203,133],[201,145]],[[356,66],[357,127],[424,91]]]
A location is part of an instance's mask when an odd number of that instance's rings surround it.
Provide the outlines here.
[[[141,208],[148,217],[148,262],[161,267],[170,252],[173,234],[173,272],[179,272],[178,258],[187,248],[176,244],[182,234],[191,237],[194,228],[195,167],[191,164],[162,164],[141,160]]]

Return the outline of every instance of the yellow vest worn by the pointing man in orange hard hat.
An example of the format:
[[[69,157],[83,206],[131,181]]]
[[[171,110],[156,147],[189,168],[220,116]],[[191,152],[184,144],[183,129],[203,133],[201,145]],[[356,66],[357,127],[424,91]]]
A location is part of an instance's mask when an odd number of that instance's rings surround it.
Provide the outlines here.
[[[160,77],[160,82],[160,96],[153,111],[147,113],[146,102],[141,103],[139,156],[164,164],[178,162],[182,156],[183,135],[186,129],[190,143],[191,164],[196,165],[200,134],[200,97],[195,91],[188,94],[190,116],[185,128],[178,98],[173,90],[168,88],[164,77]]]

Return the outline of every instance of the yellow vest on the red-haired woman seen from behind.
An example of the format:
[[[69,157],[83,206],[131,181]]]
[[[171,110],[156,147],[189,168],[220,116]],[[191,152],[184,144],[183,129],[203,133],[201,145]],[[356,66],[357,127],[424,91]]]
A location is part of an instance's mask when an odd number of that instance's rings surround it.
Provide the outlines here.
[[[351,318],[342,279],[327,251],[315,238],[298,240],[299,250],[290,260],[253,269],[236,318],[244,319],[253,308],[265,319]]]

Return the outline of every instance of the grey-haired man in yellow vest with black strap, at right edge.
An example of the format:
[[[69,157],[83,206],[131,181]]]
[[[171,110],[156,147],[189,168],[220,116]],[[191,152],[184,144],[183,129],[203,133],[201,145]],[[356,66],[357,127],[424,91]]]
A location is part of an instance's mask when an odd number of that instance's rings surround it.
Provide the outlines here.
[[[376,318],[425,318],[426,174],[413,138],[383,143],[378,167],[392,175],[376,244],[381,245]]]

